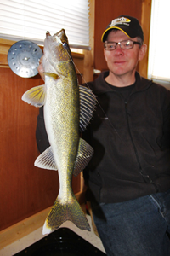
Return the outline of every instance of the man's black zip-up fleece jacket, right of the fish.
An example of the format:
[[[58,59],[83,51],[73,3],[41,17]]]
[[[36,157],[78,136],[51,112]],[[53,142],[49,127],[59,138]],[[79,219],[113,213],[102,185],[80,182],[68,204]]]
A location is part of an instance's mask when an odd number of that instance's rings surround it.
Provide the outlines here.
[[[125,101],[101,73],[88,86],[97,104],[83,137],[94,148],[84,170],[88,200],[120,202],[170,189],[170,91],[141,78]]]

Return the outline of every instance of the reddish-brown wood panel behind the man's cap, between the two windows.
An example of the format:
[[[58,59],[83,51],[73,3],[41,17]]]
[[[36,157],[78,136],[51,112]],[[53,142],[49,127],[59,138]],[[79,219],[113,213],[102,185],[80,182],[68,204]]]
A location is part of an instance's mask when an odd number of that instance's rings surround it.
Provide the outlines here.
[[[119,15],[130,15],[141,21],[143,0],[96,0],[95,1],[95,26],[94,26],[94,68],[101,71],[107,70],[103,55],[101,36],[106,26]]]

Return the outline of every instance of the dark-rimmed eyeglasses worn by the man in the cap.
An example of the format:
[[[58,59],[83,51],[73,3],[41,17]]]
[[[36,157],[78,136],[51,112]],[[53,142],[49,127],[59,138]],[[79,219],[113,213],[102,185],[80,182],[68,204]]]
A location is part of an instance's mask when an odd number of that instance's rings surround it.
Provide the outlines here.
[[[116,49],[117,44],[120,45],[121,49],[132,49],[134,44],[141,45],[141,43],[135,42],[135,41],[132,41],[132,40],[124,40],[124,41],[121,41],[121,42],[118,42],[118,43],[105,41],[104,48],[106,50],[113,50],[113,49]]]

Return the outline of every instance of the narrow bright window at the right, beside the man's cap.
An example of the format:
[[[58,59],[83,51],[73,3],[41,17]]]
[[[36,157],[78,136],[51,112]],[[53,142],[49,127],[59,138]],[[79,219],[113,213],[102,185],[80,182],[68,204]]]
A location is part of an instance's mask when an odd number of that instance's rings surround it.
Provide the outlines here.
[[[170,82],[169,0],[152,0],[148,78]]]

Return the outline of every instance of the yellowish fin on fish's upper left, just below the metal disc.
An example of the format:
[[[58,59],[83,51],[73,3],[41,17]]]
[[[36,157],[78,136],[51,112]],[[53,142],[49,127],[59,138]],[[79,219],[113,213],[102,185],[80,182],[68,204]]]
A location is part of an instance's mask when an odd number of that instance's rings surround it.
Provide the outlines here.
[[[28,104],[31,104],[37,108],[42,107],[45,104],[45,85],[39,85],[27,90],[23,96],[22,100]]]

